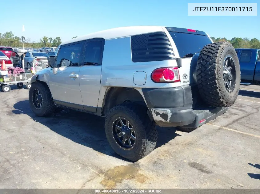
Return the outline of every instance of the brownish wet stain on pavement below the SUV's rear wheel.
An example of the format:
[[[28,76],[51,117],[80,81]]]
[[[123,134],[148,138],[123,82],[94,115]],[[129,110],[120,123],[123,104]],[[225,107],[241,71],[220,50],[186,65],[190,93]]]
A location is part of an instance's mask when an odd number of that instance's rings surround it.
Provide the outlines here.
[[[103,180],[100,182],[106,188],[115,188],[116,184],[122,183],[123,180],[135,180],[144,183],[148,180],[144,174],[139,173],[137,164],[116,166],[106,171]]]

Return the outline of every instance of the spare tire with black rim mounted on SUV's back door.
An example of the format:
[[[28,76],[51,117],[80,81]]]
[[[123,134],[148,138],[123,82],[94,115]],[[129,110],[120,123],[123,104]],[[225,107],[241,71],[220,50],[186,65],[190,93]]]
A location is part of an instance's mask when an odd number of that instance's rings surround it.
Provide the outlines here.
[[[240,65],[232,44],[216,42],[203,47],[196,70],[199,93],[208,105],[234,104],[240,87]]]

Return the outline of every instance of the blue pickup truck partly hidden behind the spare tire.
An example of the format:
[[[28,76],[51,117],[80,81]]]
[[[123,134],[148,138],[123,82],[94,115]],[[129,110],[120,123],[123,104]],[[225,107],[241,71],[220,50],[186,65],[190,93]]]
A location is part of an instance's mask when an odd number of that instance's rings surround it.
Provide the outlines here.
[[[242,85],[260,85],[260,49],[236,48]]]

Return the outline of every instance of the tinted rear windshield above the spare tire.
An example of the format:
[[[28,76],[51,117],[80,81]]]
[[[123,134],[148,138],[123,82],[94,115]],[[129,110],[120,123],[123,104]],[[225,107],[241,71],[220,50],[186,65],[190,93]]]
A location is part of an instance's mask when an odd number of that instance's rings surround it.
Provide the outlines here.
[[[208,36],[198,34],[188,34],[182,32],[169,32],[177,47],[179,55],[183,57],[192,57],[195,53],[211,43]]]

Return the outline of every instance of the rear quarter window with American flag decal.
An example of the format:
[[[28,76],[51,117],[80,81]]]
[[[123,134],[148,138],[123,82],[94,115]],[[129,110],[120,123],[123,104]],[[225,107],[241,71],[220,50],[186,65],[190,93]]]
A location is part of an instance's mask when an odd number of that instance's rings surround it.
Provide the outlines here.
[[[131,36],[133,62],[174,59],[174,52],[165,32]]]

